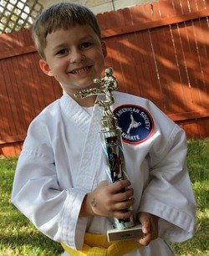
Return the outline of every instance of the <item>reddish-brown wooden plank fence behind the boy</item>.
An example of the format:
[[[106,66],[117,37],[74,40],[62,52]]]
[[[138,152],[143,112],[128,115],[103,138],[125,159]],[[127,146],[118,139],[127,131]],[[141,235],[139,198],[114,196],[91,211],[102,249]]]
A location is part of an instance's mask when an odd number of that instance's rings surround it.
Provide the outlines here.
[[[159,1],[97,16],[120,90],[149,98],[209,136],[209,2]],[[30,31],[0,35],[0,154],[18,155],[28,124],[62,95],[38,66]]]

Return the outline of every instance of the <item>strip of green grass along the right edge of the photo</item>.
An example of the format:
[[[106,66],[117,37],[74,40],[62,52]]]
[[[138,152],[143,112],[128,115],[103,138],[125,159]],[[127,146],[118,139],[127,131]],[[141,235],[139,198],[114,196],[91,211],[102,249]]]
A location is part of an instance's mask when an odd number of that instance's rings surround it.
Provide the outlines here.
[[[209,256],[209,139],[188,142],[187,162],[197,203],[196,233],[171,245],[178,256]]]

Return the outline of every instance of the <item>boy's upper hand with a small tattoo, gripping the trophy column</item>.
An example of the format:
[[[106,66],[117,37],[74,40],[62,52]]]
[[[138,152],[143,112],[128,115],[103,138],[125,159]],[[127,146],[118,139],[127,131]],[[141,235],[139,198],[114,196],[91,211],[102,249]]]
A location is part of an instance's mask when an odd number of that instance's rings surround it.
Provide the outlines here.
[[[79,216],[104,216],[111,218],[129,218],[133,212],[123,211],[134,203],[132,188],[127,180],[118,181],[113,184],[100,182],[93,192],[89,192],[84,198]]]

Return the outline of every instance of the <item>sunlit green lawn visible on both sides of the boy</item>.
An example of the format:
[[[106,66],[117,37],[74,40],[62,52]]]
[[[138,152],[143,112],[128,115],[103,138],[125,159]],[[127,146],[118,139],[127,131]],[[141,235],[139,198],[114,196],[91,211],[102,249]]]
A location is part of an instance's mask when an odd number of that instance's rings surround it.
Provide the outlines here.
[[[184,243],[171,245],[176,256],[209,256],[209,140],[189,141],[188,146],[188,166],[197,202],[196,233]],[[39,233],[10,202],[17,160],[0,156],[0,256],[60,255],[59,243]]]

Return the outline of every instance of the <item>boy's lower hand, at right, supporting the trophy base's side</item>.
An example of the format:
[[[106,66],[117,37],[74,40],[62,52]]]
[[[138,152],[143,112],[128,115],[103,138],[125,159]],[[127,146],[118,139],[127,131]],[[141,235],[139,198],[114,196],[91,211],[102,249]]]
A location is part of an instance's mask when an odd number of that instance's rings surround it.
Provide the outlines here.
[[[148,212],[139,213],[139,221],[145,235],[144,238],[138,240],[141,245],[148,245],[152,240],[158,238],[158,220],[159,217]]]

